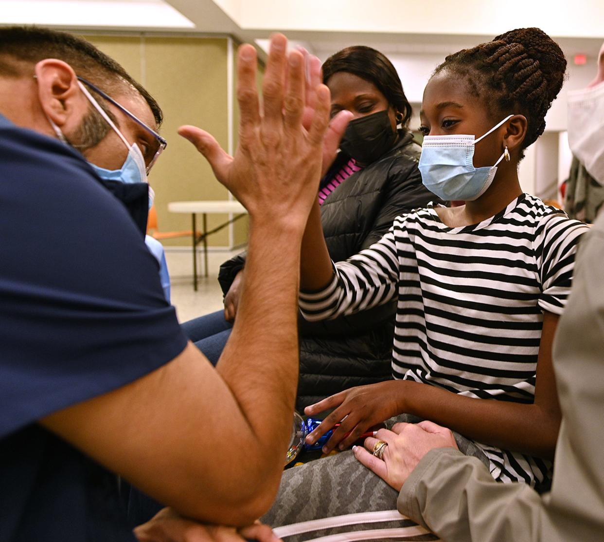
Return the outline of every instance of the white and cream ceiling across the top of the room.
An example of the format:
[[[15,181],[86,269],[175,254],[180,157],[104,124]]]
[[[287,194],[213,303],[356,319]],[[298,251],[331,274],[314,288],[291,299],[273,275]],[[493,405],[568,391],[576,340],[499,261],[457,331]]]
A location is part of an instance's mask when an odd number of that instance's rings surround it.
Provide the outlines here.
[[[0,24],[219,33],[252,43],[279,30],[322,58],[352,44],[443,54],[535,25],[568,56],[590,57],[604,40],[604,0],[0,0]]]

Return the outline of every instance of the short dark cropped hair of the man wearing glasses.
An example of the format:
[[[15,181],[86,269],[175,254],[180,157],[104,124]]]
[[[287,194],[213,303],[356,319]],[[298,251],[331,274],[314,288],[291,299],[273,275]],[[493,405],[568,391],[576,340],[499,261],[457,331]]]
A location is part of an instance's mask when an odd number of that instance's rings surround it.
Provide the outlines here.
[[[97,85],[108,94],[130,85],[145,99],[161,125],[163,114],[156,100],[132,79],[124,68],[94,45],[79,36],[36,26],[0,28],[0,75],[24,75],[20,64],[37,64],[40,60],[56,58],[69,64],[77,75]]]

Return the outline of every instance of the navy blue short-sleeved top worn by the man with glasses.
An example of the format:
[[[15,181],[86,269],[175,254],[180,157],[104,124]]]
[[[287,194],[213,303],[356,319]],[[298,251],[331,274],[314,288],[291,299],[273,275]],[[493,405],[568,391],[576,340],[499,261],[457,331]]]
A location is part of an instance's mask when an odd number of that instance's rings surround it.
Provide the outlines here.
[[[158,264],[82,156],[0,116],[0,541],[132,541],[116,476],[36,420],[186,345]]]

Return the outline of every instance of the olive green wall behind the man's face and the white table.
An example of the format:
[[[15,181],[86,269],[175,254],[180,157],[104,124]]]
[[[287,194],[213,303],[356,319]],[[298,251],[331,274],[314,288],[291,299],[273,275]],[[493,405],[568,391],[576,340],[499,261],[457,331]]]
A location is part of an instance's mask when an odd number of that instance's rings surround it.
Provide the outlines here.
[[[120,62],[163,109],[165,120],[161,133],[168,140],[168,146],[149,176],[155,190],[159,229],[191,229],[190,215],[168,212],[170,201],[228,200],[229,195],[214,178],[205,158],[178,136],[176,129],[183,124],[200,126],[213,134],[224,149],[228,148],[228,99],[233,96],[227,92],[228,70],[233,65],[228,62],[230,39],[144,35],[85,37]],[[237,122],[235,111],[233,117]],[[227,218],[228,215],[208,215],[208,229]],[[232,237],[226,227],[208,237],[208,244],[231,247],[245,243],[246,220],[234,224]],[[190,240],[177,238],[164,244],[190,246]]]

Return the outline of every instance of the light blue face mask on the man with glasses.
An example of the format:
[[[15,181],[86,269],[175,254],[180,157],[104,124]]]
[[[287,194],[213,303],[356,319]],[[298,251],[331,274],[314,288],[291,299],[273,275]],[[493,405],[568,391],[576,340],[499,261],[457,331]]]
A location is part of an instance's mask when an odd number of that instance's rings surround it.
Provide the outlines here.
[[[115,123],[109,118],[108,114],[105,113],[104,109],[101,108],[100,105],[98,105],[97,100],[92,97],[92,95],[88,92],[88,89],[79,81],[78,85],[80,86],[80,90],[82,90],[82,92],[84,93],[84,96],[88,98],[94,108],[97,109],[101,117],[103,117],[103,119],[108,122],[109,126],[114,129],[115,133],[120,137],[120,139],[124,142],[124,145],[126,145],[126,148],[128,149],[128,155],[120,169],[105,169],[101,168],[100,166],[97,166],[96,164],[93,164],[92,162],[88,162],[92,166],[92,169],[94,169],[94,171],[101,179],[106,181],[120,181],[126,184],[147,183],[147,168],[145,165],[145,160],[143,158],[143,153],[141,152],[139,146],[136,143],[132,143],[132,145],[129,145],[127,139],[120,132],[117,126],[115,126]],[[63,136],[63,132],[61,131],[59,126],[57,126],[50,118],[48,118],[48,122],[50,122],[50,125],[53,127],[54,132],[57,134],[57,137],[59,137],[59,139],[63,143],[69,145],[68,141],[65,139],[65,136]],[[155,192],[153,192],[153,189],[149,186],[149,209],[153,205],[154,198]]]

